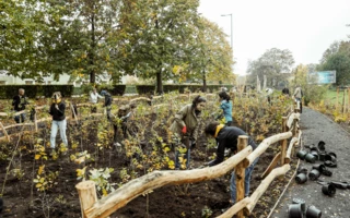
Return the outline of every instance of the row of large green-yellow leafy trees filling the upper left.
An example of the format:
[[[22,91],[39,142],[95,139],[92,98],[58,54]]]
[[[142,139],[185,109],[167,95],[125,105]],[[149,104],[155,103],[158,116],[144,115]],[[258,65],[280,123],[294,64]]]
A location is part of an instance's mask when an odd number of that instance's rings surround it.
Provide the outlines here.
[[[0,70],[42,80],[62,73],[162,81],[232,78],[225,34],[199,0],[0,0]]]

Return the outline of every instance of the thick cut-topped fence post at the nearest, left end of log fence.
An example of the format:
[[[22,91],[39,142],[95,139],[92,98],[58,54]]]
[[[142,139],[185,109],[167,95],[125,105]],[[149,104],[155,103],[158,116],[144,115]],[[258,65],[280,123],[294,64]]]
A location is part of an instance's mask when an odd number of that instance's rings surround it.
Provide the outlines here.
[[[93,181],[83,181],[75,185],[79,193],[81,217],[86,218],[85,210],[97,202],[96,186]]]

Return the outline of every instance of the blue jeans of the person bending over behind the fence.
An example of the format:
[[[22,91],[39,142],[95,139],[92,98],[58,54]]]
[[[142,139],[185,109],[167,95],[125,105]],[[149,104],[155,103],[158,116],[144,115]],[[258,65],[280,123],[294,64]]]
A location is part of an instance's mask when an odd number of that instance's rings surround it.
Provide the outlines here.
[[[245,178],[244,178],[244,196],[249,196],[249,186],[250,186],[250,178],[254,166],[258,161],[259,158],[256,158],[254,162],[245,169]],[[231,199],[233,204],[236,202],[236,178],[235,172],[232,172],[231,181],[230,181],[230,190],[231,190]]]

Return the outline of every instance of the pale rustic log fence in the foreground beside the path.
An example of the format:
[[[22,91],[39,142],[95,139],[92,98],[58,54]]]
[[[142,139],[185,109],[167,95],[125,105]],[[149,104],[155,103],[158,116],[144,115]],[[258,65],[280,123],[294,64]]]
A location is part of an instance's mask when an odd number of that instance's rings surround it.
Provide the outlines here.
[[[75,187],[79,192],[82,217],[108,217],[133,198],[141,194],[147,194],[154,189],[168,184],[176,185],[207,181],[222,177],[233,169],[236,173],[236,204],[219,217],[226,218],[237,215],[237,217],[241,218],[248,216],[252,214],[258,199],[266,192],[271,182],[276,178],[285,175],[285,173],[291,169],[290,161],[293,147],[300,143],[302,135],[302,132],[299,129],[299,113],[291,113],[289,117],[284,117],[282,133],[265,138],[254,152],[252,146],[247,144],[247,136],[242,135],[238,137],[238,153],[220,165],[185,171],[153,171],[124,184],[118,190],[101,199],[97,199],[96,197],[95,187],[94,185],[91,185],[92,181],[80,182]],[[289,138],[291,138],[291,141],[289,146],[287,146]],[[249,197],[244,197],[245,169],[249,167],[256,158],[264,154],[270,145],[278,142],[281,142],[281,150],[276,155],[271,165],[268,166],[266,171],[262,173],[265,179]],[[280,167],[277,167],[278,160],[280,160]]]

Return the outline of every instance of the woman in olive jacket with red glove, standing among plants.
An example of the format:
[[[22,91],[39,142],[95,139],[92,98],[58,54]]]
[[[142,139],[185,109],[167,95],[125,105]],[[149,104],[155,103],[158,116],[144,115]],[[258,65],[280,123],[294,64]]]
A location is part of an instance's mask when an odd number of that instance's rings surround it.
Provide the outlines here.
[[[189,168],[190,149],[196,146],[198,124],[201,119],[201,111],[206,107],[206,98],[197,96],[192,104],[183,107],[176,114],[170,130],[177,136],[175,150],[175,169],[180,169],[179,155],[186,160],[186,168]],[[186,152],[183,152],[186,150]]]

